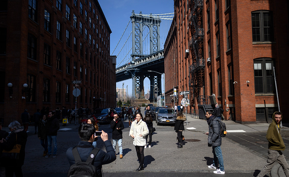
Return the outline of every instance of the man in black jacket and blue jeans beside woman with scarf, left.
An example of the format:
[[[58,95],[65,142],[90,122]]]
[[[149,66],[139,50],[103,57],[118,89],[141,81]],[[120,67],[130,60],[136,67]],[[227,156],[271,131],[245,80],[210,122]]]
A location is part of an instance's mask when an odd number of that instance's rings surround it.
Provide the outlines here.
[[[49,112],[48,114],[49,119],[47,120],[48,132],[47,132],[47,140],[48,140],[48,152],[46,154],[46,158],[51,156],[51,144],[53,141],[53,155],[52,158],[56,157],[57,152],[57,131],[59,130],[59,122],[58,119],[54,116],[53,112]]]

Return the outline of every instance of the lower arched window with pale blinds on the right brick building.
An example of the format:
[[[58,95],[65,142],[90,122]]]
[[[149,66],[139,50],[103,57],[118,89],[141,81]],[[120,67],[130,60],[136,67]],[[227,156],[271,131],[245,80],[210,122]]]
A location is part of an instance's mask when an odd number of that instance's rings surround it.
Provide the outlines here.
[[[254,60],[255,93],[275,93],[272,59]]]

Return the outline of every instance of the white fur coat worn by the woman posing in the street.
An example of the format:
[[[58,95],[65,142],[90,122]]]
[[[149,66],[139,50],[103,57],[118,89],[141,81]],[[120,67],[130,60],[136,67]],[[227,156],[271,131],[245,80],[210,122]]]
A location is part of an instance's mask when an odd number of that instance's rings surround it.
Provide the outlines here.
[[[140,119],[138,124],[137,120],[131,123],[129,136],[132,134],[134,135],[134,142],[135,146],[144,146],[146,145],[145,136],[149,134],[149,129],[147,128],[147,124]],[[142,134],[142,136],[140,136]]]

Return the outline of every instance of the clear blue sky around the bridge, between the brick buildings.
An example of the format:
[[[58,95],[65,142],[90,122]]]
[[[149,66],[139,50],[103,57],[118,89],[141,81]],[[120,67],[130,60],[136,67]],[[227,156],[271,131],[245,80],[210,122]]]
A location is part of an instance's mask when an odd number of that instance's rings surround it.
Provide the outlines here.
[[[124,32],[127,23],[129,22],[129,17],[131,16],[132,10],[135,13],[142,11],[142,14],[164,14],[174,12],[174,1],[173,0],[99,0],[99,4],[103,10],[106,20],[112,31],[110,35],[110,51],[112,52],[120,39],[122,33]],[[162,20],[161,28],[164,31],[168,31],[171,24],[171,20]],[[131,22],[127,27],[126,32],[131,32]],[[165,34],[164,34],[165,33]],[[167,36],[167,32],[163,32],[161,35],[161,48],[163,48],[163,42]],[[125,38],[128,37],[124,35]],[[123,44],[121,44],[123,45]],[[129,46],[128,48],[130,48]],[[117,49],[116,49],[117,50]],[[119,51],[119,50],[118,50]],[[116,55],[118,51],[115,51],[113,55]],[[128,50],[127,50],[128,51]],[[121,57],[118,57],[121,59]],[[118,63],[118,62],[117,62]],[[163,77],[163,76],[162,76]],[[131,95],[131,79],[122,82],[117,82],[116,87],[124,88],[128,85],[128,95]],[[149,79],[144,80],[144,91],[147,92],[149,88]],[[163,80],[162,80],[162,90],[164,90]],[[163,92],[163,91],[162,91]]]

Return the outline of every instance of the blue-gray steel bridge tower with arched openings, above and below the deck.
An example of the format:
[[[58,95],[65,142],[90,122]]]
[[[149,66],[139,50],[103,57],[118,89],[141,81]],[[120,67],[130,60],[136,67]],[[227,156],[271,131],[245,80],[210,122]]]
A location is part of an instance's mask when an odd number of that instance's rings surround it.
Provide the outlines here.
[[[134,10],[131,13],[131,23],[132,23],[132,54],[131,54],[131,61],[136,61],[137,58],[142,58],[146,56],[143,54],[142,48],[142,40],[143,40],[143,33],[142,30],[145,26],[149,27],[149,34],[150,34],[150,53],[154,53],[160,50],[160,22],[159,18],[147,17],[142,16],[142,12],[140,14],[135,14]],[[144,74],[138,73],[134,71],[132,74],[132,97],[138,99],[144,99],[144,84],[143,80],[145,76],[148,76],[151,80],[151,85],[158,86],[159,90],[161,90],[161,82],[155,82],[155,80],[160,80],[160,76],[155,78],[154,73],[151,74]],[[154,83],[154,84],[152,84]],[[156,85],[157,84],[157,85]],[[153,91],[155,91],[154,87],[151,86],[151,95],[150,99],[153,99]]]

